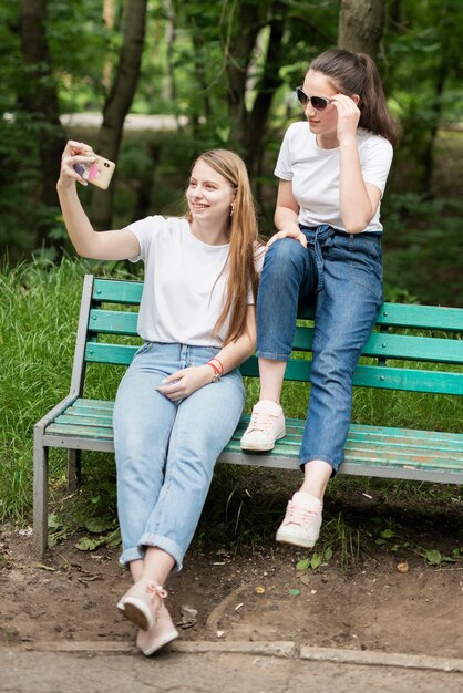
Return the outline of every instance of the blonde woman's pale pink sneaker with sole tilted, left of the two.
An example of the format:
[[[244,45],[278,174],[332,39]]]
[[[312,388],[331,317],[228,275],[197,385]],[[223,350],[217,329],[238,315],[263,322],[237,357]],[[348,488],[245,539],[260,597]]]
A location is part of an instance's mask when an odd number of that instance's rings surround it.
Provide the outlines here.
[[[167,592],[153,580],[140,580],[125,592],[117,609],[135,625],[151,631],[156,622],[157,612]]]

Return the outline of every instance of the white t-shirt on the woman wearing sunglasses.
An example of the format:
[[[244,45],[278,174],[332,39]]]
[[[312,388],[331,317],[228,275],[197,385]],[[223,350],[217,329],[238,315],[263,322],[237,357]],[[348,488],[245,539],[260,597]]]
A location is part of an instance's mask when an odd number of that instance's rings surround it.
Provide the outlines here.
[[[363,180],[375,185],[382,195],[392,163],[391,143],[359,127],[357,147]],[[307,122],[292,123],[286,131],[275,175],[292,180],[292,195],[299,205],[299,224],[329,224],[346,231],[339,203],[339,147],[320,148]],[[363,231],[382,232],[380,205]]]

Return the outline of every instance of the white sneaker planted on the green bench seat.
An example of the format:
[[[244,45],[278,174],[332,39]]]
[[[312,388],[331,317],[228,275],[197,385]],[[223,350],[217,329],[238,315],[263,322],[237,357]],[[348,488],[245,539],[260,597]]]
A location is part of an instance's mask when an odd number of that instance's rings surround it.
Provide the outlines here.
[[[253,408],[248,427],[241,438],[241,449],[265,452],[286,435],[282,408],[276,402],[261,400]]]

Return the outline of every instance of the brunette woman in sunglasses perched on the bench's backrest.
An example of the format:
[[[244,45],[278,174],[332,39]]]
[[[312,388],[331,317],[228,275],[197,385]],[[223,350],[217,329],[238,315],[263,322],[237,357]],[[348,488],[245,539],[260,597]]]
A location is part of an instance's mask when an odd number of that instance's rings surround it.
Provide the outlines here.
[[[277,541],[312,547],[329,478],[343,461],[352,374],[383,301],[380,204],[397,136],[374,62],[330,50],[297,87],[305,120],[285,134],[257,301],[260,399],[241,439],[269,451],[286,435],[280,393],[298,304],[315,308],[310,396],[300,466]]]

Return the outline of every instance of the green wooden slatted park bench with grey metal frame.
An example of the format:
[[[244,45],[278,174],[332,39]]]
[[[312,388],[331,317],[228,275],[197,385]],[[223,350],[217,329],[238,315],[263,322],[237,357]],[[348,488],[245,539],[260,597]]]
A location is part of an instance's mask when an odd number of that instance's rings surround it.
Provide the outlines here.
[[[75,342],[71,391],[34,427],[34,548],[48,547],[48,457],[51,447],[68,451],[68,480],[80,483],[81,452],[114,452],[113,402],[91,399],[85,385],[92,363],[127,366],[141,344],[136,333],[141,281],[99,279],[86,275]],[[313,329],[310,313],[301,313],[286,381],[308,382]],[[424,333],[424,334],[423,334]],[[136,339],[134,339],[136,338]],[[117,343],[119,341],[119,343]],[[356,370],[356,386],[392,391],[463,395],[463,309],[384,303],[377,328]],[[258,377],[256,356],[241,365]],[[455,430],[463,430],[463,400],[455,397]],[[244,453],[239,439],[247,426],[243,416],[219,462],[286,469],[298,468],[305,421],[287,420],[287,435],[265,454]],[[387,422],[381,422],[387,423]],[[346,445],[343,474],[463,483],[463,433],[418,431],[352,423]]]

